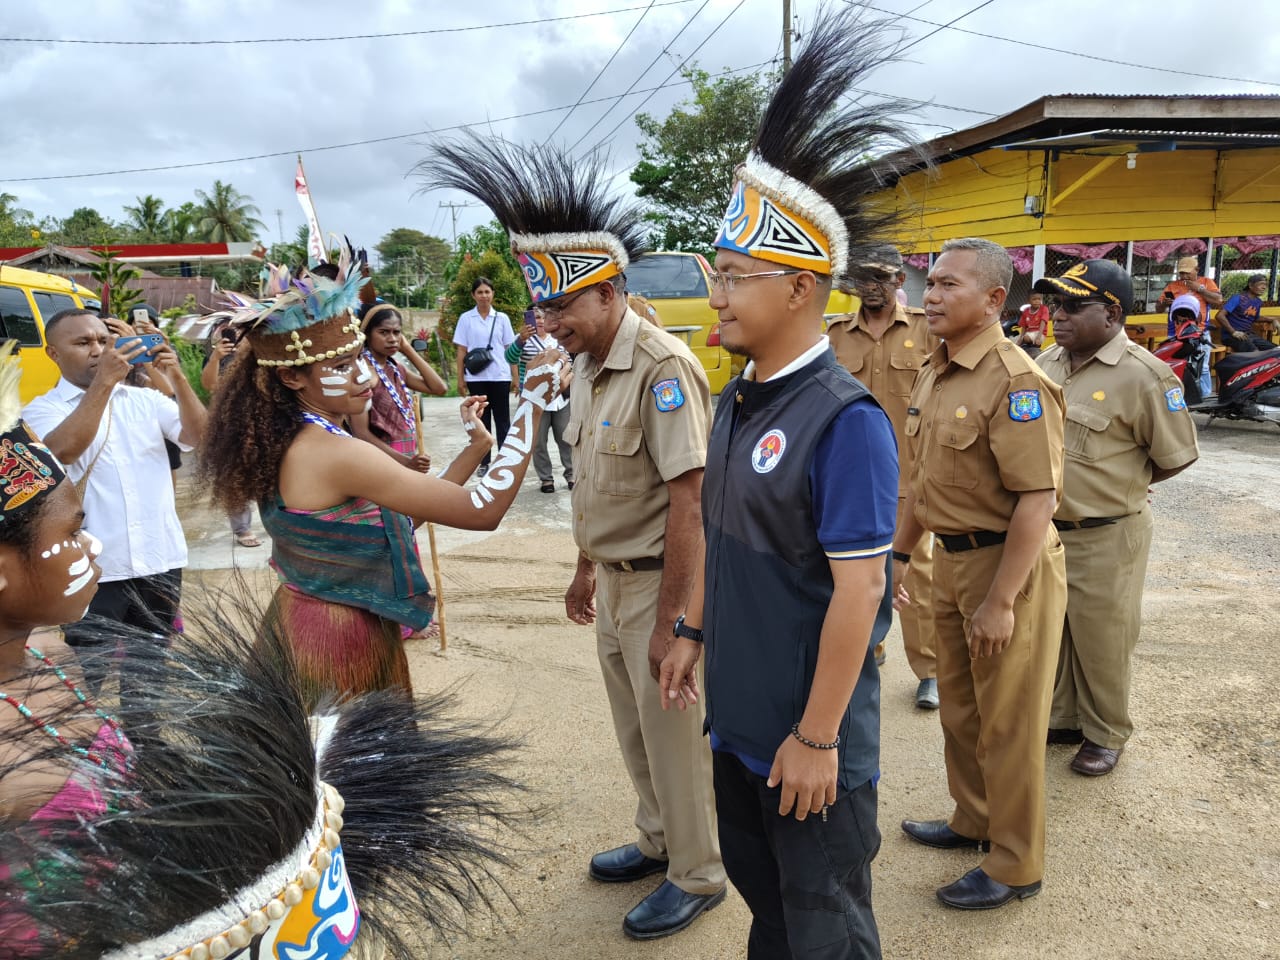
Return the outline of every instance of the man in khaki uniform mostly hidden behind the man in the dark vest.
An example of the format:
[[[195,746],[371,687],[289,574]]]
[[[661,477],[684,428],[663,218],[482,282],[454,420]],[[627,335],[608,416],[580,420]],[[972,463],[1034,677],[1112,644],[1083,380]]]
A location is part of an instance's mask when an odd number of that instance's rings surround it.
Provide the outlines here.
[[[906,273],[897,247],[883,246],[869,251],[874,262],[854,270],[854,285],[861,301],[856,314],[846,314],[831,321],[827,337],[836,351],[836,360],[872,392],[888,413],[897,438],[899,490],[897,526],[902,525],[906,504],[906,483],[910,467],[906,462],[906,407],[911,397],[915,375],[938,346],[929,333],[924,311],[905,307],[897,302]],[[902,627],[902,646],[906,662],[919,684],[915,687],[915,705],[936,710],[938,708],[937,666],[933,655],[933,612],[929,607],[929,585],[933,579],[933,538],[922,536],[911,550],[906,566],[906,591],[911,600],[899,612]],[[883,662],[883,644],[876,649],[877,662]]]

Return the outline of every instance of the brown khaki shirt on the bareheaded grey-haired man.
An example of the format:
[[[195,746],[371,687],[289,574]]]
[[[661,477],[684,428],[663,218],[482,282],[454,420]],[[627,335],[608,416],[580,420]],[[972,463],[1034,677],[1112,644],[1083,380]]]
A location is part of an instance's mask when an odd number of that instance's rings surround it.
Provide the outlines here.
[[[1019,494],[1062,492],[1062,390],[998,323],[933,352],[905,433],[915,517],[934,534],[1005,531]]]

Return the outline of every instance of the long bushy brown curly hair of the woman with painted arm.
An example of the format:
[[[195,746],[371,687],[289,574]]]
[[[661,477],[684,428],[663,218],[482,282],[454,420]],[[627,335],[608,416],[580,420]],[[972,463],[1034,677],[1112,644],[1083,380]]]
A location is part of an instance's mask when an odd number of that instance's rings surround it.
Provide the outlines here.
[[[200,447],[200,477],[228,511],[275,494],[280,462],[302,429],[293,390],[243,351],[219,378]]]

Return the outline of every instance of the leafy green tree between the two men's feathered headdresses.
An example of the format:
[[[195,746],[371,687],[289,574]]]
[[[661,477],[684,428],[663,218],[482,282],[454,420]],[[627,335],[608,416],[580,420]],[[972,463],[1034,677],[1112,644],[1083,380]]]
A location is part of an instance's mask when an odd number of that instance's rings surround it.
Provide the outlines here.
[[[631,182],[649,201],[645,220],[653,224],[650,242],[657,248],[709,253],[733,187],[733,168],[755,138],[774,77],[712,81],[696,68],[682,73],[694,84],[689,100],[663,120],[636,116],[644,140]]]

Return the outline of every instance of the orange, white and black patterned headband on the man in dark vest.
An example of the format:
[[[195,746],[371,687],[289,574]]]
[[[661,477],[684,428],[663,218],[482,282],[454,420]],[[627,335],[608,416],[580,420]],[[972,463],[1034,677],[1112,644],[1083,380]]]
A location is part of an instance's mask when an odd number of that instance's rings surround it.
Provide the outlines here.
[[[713,246],[801,270],[842,274],[849,230],[820,193],[753,156],[735,173]]]

